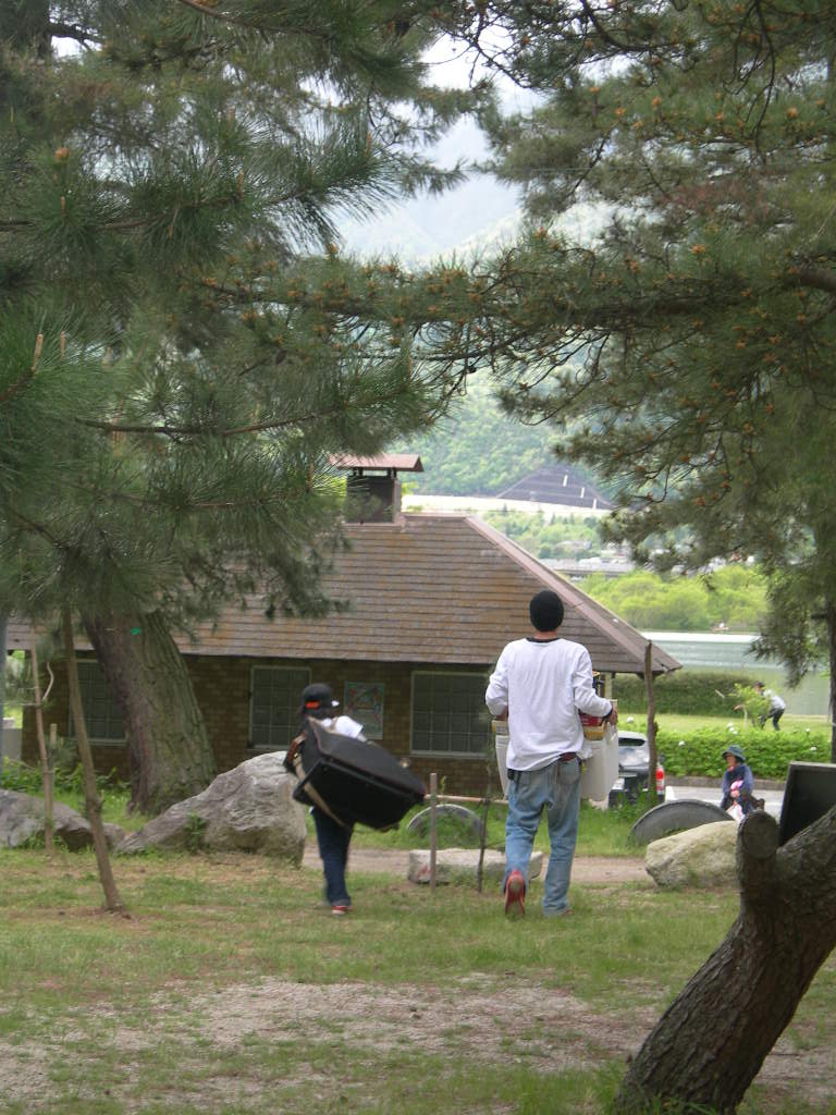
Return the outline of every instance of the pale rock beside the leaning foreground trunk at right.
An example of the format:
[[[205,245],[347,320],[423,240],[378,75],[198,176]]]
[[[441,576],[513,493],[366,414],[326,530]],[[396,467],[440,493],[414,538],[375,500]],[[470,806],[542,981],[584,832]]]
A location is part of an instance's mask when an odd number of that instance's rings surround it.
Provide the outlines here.
[[[735,849],[738,826],[718,821],[648,844],[644,870],[665,890],[737,888]]]

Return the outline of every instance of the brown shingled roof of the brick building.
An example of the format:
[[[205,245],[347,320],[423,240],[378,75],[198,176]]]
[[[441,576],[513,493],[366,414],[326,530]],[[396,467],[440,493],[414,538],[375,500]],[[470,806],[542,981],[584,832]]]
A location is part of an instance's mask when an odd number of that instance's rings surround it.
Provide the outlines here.
[[[325,619],[264,614],[259,597],[227,607],[185,655],[488,665],[531,630],[528,601],[541,589],[565,605],[561,633],[583,643],[596,670],[643,673],[647,641],[634,628],[505,535],[465,515],[399,515],[395,523],[347,527],[348,552],[324,591],[349,609]],[[27,646],[11,623],[9,646]],[[81,646],[81,643],[79,643]],[[653,648],[653,672],[680,663]]]

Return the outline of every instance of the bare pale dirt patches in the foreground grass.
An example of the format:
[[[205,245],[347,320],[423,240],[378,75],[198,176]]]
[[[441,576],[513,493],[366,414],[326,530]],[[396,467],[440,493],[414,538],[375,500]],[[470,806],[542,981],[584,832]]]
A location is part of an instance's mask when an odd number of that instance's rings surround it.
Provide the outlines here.
[[[439,1058],[465,1058],[474,1065],[524,1059],[533,1070],[594,1069],[613,1058],[626,1059],[655,1022],[652,1008],[593,1011],[589,1004],[562,991],[544,990],[535,978],[496,980],[473,973],[453,988],[415,985],[340,982],[299,983],[263,979],[220,990],[194,993],[172,988],[154,1000],[153,1029],[125,1025],[117,1004],[97,1009],[107,1026],[106,1044],[129,1065],[161,1041],[176,1043],[184,1064],[212,1063],[217,1056],[252,1048],[253,1041],[292,1039],[300,1049],[328,1046],[339,1039],[358,1060],[375,1064],[381,1054],[415,1048]],[[62,1040],[81,1039],[84,1027],[69,1026]],[[99,1038],[101,1040],[101,1038]],[[48,1066],[60,1058],[60,1044],[50,1047],[0,1041],[0,1094],[25,1109],[48,1089]],[[121,1060],[121,1056],[120,1056]],[[772,1098],[795,1096],[809,1104],[828,1101],[834,1055],[818,1049],[794,1050],[779,1041],[758,1077]],[[251,1079],[250,1085],[254,1085]],[[328,1086],[327,1082],[323,1082]],[[242,1084],[230,1082],[240,1095]],[[136,1109],[129,1069],[113,1095],[123,1109]],[[193,1076],[189,1103],[207,1112],[223,1105],[224,1084],[211,1072]],[[183,1098],[183,1097],[182,1097]],[[175,1101],[175,1097],[171,1097]],[[779,1101],[780,1102],[780,1101]],[[775,1107],[778,1109],[789,1109]]]

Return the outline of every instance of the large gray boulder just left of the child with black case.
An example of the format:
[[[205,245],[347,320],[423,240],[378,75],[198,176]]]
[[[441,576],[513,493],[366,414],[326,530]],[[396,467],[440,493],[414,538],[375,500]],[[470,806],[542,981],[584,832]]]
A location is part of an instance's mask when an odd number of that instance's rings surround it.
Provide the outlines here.
[[[261,852],[299,865],[304,851],[305,812],[291,797],[295,784],[295,777],[282,766],[281,756],[257,755],[126,836],[116,851],[121,854],[149,847],[200,846]]]

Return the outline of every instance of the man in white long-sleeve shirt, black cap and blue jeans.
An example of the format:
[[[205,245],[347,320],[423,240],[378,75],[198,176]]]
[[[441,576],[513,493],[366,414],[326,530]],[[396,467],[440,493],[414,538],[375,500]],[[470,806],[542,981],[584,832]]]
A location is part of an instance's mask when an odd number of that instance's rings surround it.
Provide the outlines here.
[[[589,651],[561,639],[563,602],[545,590],[528,605],[534,634],[509,642],[490,676],[485,702],[508,718],[508,820],[505,827],[505,912],[525,912],[528,861],[543,809],[551,855],[543,912],[568,912],[568,881],[581,807],[583,727],[580,712],[615,724],[612,701],[592,682]]]

